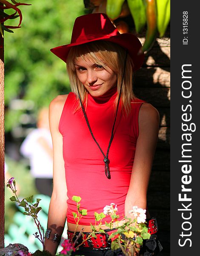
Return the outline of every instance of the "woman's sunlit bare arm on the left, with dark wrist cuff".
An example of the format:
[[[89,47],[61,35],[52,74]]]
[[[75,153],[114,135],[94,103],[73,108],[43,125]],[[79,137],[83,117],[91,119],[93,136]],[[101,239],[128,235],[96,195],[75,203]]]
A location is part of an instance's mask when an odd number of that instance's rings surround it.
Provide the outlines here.
[[[53,241],[54,234],[62,235],[66,222],[67,188],[63,160],[63,136],[58,130],[60,116],[67,95],[57,96],[49,106],[49,126],[51,131],[54,167],[53,167],[53,192],[49,205],[47,228],[51,229],[49,239],[45,239],[45,250],[52,255],[57,251],[58,243]]]

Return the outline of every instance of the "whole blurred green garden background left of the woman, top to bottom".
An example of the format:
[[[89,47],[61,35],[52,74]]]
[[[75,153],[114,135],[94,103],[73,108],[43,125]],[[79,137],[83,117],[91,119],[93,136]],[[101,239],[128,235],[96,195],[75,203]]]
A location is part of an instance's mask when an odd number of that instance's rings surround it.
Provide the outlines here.
[[[29,162],[20,155],[20,145],[29,131],[36,127],[38,110],[49,106],[58,94],[70,91],[66,64],[50,49],[68,44],[75,18],[89,12],[84,8],[83,0],[24,2],[31,3],[31,6],[19,7],[23,15],[22,27],[14,29],[14,34],[4,34],[6,179],[15,177],[19,198],[37,194]],[[19,18],[7,20],[5,24],[16,26],[18,22]],[[5,233],[14,222],[14,214],[19,211],[9,200],[11,196],[10,189],[5,188]],[[33,243],[32,238],[29,241]],[[29,244],[25,245],[29,247]]]

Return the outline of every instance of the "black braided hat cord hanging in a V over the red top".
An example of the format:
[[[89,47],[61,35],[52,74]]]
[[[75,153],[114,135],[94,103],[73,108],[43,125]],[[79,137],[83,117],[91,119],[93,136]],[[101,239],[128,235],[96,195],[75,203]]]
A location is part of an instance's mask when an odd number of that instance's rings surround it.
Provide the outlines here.
[[[81,108],[83,110],[83,115],[86,119],[86,123],[88,125],[89,131],[91,133],[91,136],[92,136],[94,142],[97,144],[98,148],[100,149],[101,153],[103,154],[103,157],[104,157],[103,161],[105,163],[105,174],[106,174],[106,177],[108,179],[111,179],[110,169],[109,169],[109,150],[110,150],[110,146],[111,146],[111,143],[112,143],[113,137],[114,137],[114,125],[115,125],[115,122],[116,122],[116,119],[117,119],[117,111],[118,111],[119,104],[120,104],[120,97],[121,97],[121,92],[122,92],[122,84],[123,84],[123,79],[124,79],[127,55],[128,55],[128,52],[126,51],[126,58],[125,58],[125,62],[124,62],[124,70],[123,70],[123,76],[122,76],[122,83],[121,83],[121,87],[120,87],[119,99],[118,99],[118,102],[117,102],[116,114],[115,114],[114,123],[113,123],[113,126],[112,126],[111,137],[110,137],[109,146],[108,146],[106,155],[104,154],[103,150],[101,149],[99,143],[97,143],[97,140],[95,139],[94,134],[91,131],[91,127],[90,127],[90,124],[89,124],[89,121],[88,121],[88,117],[86,115],[86,111],[85,111],[85,108],[83,106],[83,103],[80,99],[80,93],[79,93],[78,86],[77,86],[78,97],[79,97],[79,100],[80,100]]]

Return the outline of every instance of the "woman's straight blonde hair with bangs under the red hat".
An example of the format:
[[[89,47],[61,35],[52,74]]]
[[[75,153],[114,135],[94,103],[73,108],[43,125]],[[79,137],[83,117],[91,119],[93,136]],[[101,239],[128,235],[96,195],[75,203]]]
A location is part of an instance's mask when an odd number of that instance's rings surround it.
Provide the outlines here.
[[[105,69],[109,67],[117,75],[117,97],[114,101],[115,109],[119,99],[120,87],[122,84],[121,104],[126,113],[129,114],[131,110],[131,100],[135,98],[132,85],[132,59],[127,56],[124,79],[122,83],[124,64],[126,59],[126,50],[118,44],[107,41],[94,41],[83,45],[71,47],[67,56],[67,72],[71,84],[71,91],[75,93],[78,98],[78,90],[80,98],[84,105],[87,105],[87,90],[79,81],[75,69],[75,60],[80,57],[83,60],[89,59],[95,64],[103,66]],[[106,60],[106,63],[105,61]],[[78,90],[77,90],[78,87]],[[78,109],[78,108],[77,108]]]

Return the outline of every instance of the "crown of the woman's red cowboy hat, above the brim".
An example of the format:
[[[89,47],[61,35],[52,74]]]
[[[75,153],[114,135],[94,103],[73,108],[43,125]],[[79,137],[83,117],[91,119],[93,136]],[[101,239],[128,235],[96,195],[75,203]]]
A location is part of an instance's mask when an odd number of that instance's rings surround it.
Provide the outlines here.
[[[109,38],[120,35],[117,28],[104,13],[93,13],[77,17],[71,36],[71,44],[94,40],[95,38]]]

